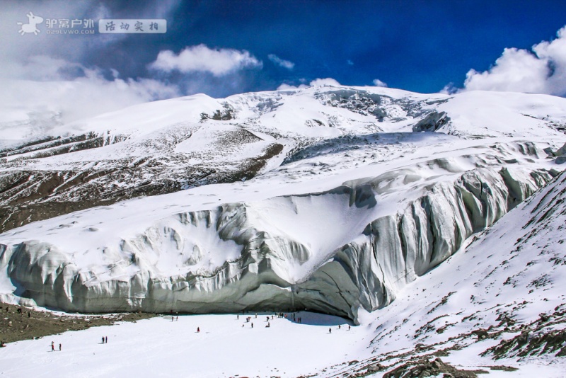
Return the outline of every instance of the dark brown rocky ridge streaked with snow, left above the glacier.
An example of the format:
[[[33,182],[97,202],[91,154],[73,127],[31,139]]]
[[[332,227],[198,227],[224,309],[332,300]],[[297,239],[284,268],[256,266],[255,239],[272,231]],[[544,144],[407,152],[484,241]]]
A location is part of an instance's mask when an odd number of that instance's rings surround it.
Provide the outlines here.
[[[125,140],[125,136],[89,133],[65,138],[46,137],[0,151],[0,156],[21,155],[10,162],[0,162],[0,166],[4,166],[0,171],[0,232],[135,197],[173,193],[190,186],[247,180],[258,174],[267,161],[283,149],[281,144],[272,143],[262,154],[253,159],[242,159],[237,164],[222,161],[191,164],[191,156],[175,153],[170,146],[167,146],[169,151],[166,154],[103,161],[91,168],[39,171],[27,169],[27,165],[23,164],[29,161],[32,163],[29,166],[33,166],[35,159],[98,149]],[[238,148],[255,140],[260,139],[242,129],[219,137],[218,144],[224,148]]]

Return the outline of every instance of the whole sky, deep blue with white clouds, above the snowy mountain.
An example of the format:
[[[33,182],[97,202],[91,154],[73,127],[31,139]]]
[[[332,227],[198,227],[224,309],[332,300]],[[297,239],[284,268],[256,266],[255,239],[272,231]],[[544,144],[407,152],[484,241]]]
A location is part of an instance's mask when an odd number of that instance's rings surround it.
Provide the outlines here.
[[[146,91],[144,101],[224,97],[317,78],[358,86],[379,79],[423,93],[451,85],[566,94],[566,32],[557,38],[566,25],[563,0],[55,0],[2,7],[0,79],[123,81],[134,94]],[[165,18],[168,31],[47,35],[44,22],[39,35],[20,35],[16,23],[29,11],[46,19]],[[466,81],[470,69],[475,74]]]

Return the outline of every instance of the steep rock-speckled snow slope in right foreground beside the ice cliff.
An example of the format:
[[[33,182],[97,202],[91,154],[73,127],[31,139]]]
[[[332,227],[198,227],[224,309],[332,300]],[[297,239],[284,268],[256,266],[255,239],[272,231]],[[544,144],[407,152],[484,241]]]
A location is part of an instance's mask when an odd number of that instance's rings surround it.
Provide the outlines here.
[[[442,356],[444,362],[467,370],[487,365],[519,368],[499,373],[505,377],[563,377],[565,196],[562,173],[473,236],[446,262],[407,285],[369,323],[371,360],[341,372],[365,372],[381,363],[381,372],[372,375],[381,377],[418,357]]]

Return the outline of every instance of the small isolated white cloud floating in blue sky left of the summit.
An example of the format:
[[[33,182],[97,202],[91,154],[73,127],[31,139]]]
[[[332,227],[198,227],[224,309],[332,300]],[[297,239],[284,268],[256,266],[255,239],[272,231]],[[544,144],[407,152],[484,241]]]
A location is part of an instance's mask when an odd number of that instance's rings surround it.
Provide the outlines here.
[[[151,69],[171,72],[210,72],[214,76],[223,76],[243,68],[261,68],[258,61],[246,50],[211,49],[207,45],[185,47],[178,55],[171,50],[159,52]]]

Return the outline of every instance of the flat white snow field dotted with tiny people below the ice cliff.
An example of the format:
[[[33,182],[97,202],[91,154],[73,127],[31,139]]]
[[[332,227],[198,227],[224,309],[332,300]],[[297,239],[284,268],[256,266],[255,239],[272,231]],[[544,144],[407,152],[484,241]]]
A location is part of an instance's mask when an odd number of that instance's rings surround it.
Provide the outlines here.
[[[364,326],[348,330],[344,319],[308,312],[296,313],[301,324],[268,315],[270,328],[267,314],[163,316],[11,343],[0,350],[0,377],[297,377],[368,353]]]

